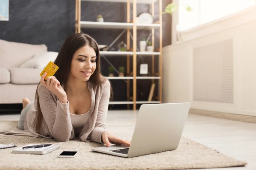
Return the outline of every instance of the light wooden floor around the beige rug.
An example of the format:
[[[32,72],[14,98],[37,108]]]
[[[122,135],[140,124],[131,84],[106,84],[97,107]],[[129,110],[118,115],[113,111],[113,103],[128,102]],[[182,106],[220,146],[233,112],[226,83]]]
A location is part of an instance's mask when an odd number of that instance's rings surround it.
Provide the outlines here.
[[[136,121],[138,111],[109,111],[110,120]],[[0,115],[0,120],[18,120],[19,114]],[[183,136],[233,158],[247,161],[246,167],[210,170],[256,170],[256,124],[189,114]]]

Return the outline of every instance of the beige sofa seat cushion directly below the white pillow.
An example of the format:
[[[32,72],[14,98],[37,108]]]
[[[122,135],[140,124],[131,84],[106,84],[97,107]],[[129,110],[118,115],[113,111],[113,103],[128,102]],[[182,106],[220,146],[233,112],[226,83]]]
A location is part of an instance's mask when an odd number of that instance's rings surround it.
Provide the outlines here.
[[[36,68],[11,68],[11,83],[13,84],[38,84],[42,69]]]

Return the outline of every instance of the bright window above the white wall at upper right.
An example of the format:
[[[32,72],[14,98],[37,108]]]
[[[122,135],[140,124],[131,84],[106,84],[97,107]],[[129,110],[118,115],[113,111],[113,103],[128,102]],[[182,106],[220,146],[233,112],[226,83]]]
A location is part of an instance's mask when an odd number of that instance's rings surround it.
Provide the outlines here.
[[[255,6],[256,0],[179,0],[178,31],[217,20]],[[190,6],[193,11],[186,11]]]

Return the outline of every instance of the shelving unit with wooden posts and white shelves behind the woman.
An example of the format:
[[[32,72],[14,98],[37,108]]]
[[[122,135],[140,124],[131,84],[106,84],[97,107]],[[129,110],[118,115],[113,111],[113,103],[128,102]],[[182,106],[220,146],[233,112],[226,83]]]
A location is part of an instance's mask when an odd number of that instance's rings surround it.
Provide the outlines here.
[[[127,4],[127,20],[124,23],[113,23],[113,22],[91,22],[91,21],[81,21],[81,1],[101,1],[101,2],[118,2]],[[142,24],[137,23],[137,3],[151,4],[151,14],[154,17],[154,3],[159,2],[159,20],[156,23],[152,24]],[[130,12],[131,5],[133,6],[133,20],[131,22]],[[133,41],[132,46],[137,47],[137,30],[146,29],[151,30],[152,32],[152,46],[154,47],[154,30],[159,29],[159,49],[157,52],[140,52],[137,51],[137,48],[132,48],[132,51],[100,51],[101,55],[104,56],[123,56],[127,58],[127,70],[126,73],[128,77],[106,77],[108,79],[125,79],[127,80],[127,101],[114,101],[110,102],[111,105],[122,105],[126,104],[129,108],[129,105],[133,105],[133,109],[136,110],[137,104],[146,104],[146,103],[162,103],[162,0],[76,0],[76,33],[81,32],[81,28],[98,28],[98,29],[127,29],[127,49],[131,48],[130,34],[132,31]],[[152,70],[151,75],[157,75],[153,77],[137,77],[137,55],[142,56],[151,56],[152,57]],[[133,69],[130,70],[130,57],[133,57]],[[159,70],[158,72],[154,71],[154,57],[159,57]],[[151,79],[152,83],[158,81],[158,94],[159,96],[155,97],[158,101],[136,101],[136,92],[137,92],[137,79]],[[130,80],[133,80],[133,96],[130,96]],[[130,101],[132,99],[132,101]]]

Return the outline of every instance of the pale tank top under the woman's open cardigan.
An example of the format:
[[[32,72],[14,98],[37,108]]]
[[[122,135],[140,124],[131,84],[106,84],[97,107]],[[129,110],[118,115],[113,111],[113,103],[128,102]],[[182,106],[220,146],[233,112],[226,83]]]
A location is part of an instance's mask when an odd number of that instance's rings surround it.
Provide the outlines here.
[[[76,136],[78,136],[81,133],[84,125],[87,124],[89,117],[90,117],[90,109],[89,111],[87,111],[87,113],[84,113],[84,114],[70,113],[71,124],[74,128]]]

